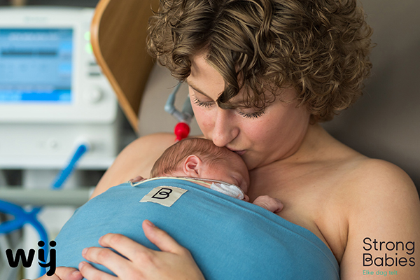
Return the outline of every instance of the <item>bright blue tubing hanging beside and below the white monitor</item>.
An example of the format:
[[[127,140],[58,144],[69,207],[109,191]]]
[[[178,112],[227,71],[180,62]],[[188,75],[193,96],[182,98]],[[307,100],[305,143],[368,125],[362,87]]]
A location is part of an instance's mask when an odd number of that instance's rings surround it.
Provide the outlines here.
[[[69,165],[67,165],[66,168],[64,168],[59,174],[57,174],[57,177],[52,183],[51,188],[53,190],[58,190],[61,188],[64,184],[64,181],[66,181],[67,178],[69,178],[71,172],[73,172],[73,169],[76,167],[76,163],[82,155],[84,155],[87,152],[87,144],[81,144],[78,146],[76,152],[74,153],[73,157],[71,158]],[[6,235],[10,232],[13,232],[14,230],[19,230],[22,228],[25,224],[32,225],[34,229],[38,232],[38,235],[40,237],[40,240],[44,242],[44,246],[42,246],[44,250],[44,260],[47,260],[48,258],[48,233],[45,230],[45,227],[42,225],[40,221],[38,221],[38,218],[36,217],[41,211],[41,207],[34,207],[30,211],[26,211],[22,207],[6,202],[3,200],[0,200],[0,212],[5,214],[13,215],[15,218],[10,221],[6,221],[4,223],[0,224],[0,235]],[[46,272],[45,267],[40,267],[40,274],[39,276],[43,276]]]

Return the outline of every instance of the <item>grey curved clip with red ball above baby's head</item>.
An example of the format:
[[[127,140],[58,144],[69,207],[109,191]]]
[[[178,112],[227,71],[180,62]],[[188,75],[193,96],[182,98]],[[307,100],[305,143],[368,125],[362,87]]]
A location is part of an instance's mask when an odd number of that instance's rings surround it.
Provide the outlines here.
[[[194,116],[193,108],[191,107],[191,102],[189,98],[187,98],[186,102],[184,102],[181,112],[178,111],[174,106],[175,95],[176,92],[178,92],[179,87],[181,87],[181,85],[182,83],[178,83],[178,85],[174,87],[174,90],[171,94],[169,94],[169,97],[165,104],[165,111],[167,111],[167,113],[170,113],[172,116],[174,116],[174,118],[176,118],[176,120],[179,121],[179,123],[177,123],[174,128],[174,133],[176,135],[175,141],[180,141],[188,137],[188,134],[190,134],[189,124]]]

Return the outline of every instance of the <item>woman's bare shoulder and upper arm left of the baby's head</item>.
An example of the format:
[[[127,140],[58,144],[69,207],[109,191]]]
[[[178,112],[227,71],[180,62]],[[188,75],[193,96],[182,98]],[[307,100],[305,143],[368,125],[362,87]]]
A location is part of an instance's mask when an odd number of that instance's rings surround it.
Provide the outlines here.
[[[174,143],[175,136],[169,133],[151,134],[136,139],[118,155],[90,198],[136,176],[148,178],[155,161]]]

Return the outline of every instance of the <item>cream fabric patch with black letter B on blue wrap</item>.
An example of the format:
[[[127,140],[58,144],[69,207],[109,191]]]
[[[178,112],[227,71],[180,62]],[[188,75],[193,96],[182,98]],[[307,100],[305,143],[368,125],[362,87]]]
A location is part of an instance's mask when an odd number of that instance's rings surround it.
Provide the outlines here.
[[[187,190],[171,186],[160,186],[154,188],[150,193],[145,195],[140,202],[153,202],[160,205],[171,207],[179,197],[186,193]]]

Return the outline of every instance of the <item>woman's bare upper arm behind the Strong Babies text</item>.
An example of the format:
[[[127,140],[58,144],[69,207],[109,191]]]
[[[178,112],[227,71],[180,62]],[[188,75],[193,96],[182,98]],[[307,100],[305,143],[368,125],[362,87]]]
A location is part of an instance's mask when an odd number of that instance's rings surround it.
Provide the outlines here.
[[[414,183],[401,169],[380,160],[370,160],[359,175],[349,193],[341,279],[418,279],[420,202]]]

